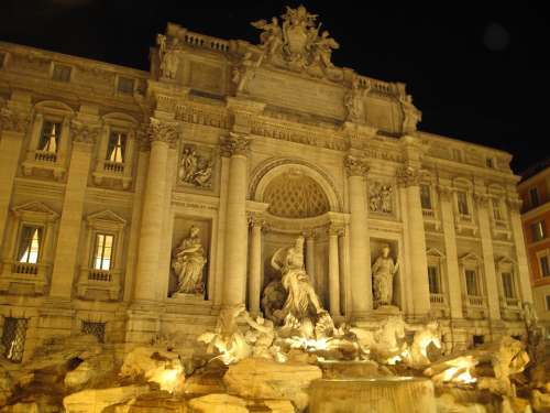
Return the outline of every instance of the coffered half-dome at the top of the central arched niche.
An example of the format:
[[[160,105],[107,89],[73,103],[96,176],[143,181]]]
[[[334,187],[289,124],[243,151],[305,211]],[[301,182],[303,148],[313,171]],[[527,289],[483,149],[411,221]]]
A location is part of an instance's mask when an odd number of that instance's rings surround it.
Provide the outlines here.
[[[264,191],[267,211],[282,218],[311,218],[330,210],[321,186],[298,169],[282,172]]]

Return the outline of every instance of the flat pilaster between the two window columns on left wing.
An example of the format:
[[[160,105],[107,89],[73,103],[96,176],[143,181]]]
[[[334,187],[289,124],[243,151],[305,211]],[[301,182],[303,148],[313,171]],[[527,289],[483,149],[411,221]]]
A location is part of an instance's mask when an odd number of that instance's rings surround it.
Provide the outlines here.
[[[69,300],[77,270],[78,243],[82,226],[84,199],[90,172],[91,150],[99,128],[90,128],[74,121],[70,126],[73,152],[68,170],[59,232],[55,249],[54,269],[50,296]],[[68,138],[68,137],[67,137]]]

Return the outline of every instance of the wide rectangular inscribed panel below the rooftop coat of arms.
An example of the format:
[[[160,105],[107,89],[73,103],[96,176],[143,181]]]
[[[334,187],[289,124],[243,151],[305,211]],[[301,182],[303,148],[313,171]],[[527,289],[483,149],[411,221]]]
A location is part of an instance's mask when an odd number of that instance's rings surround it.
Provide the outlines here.
[[[258,69],[249,86],[251,96],[268,104],[332,119],[343,119],[344,90],[320,81]]]

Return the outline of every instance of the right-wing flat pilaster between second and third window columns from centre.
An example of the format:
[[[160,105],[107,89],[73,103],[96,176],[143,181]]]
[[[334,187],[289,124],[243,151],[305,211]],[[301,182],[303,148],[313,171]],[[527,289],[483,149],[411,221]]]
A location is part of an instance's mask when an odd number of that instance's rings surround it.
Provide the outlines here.
[[[488,197],[485,194],[474,194],[477,204],[477,218],[480,220],[480,238],[483,253],[483,278],[487,294],[488,317],[492,320],[501,319],[501,306],[498,300],[498,282],[496,280],[495,253],[493,250],[493,237],[488,218]]]

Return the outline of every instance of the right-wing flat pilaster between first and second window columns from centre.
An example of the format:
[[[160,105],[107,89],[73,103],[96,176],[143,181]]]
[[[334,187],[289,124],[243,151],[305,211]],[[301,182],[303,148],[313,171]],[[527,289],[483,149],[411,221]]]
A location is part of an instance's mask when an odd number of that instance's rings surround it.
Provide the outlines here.
[[[449,308],[452,318],[462,318],[462,290],[459,270],[459,256],[457,250],[457,231],[454,229],[452,206],[453,196],[450,187],[439,187],[439,202],[441,205],[441,226],[443,228],[446,248]]]

